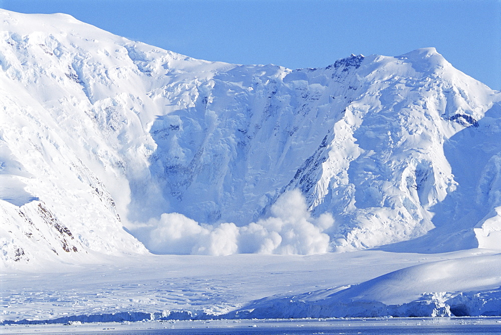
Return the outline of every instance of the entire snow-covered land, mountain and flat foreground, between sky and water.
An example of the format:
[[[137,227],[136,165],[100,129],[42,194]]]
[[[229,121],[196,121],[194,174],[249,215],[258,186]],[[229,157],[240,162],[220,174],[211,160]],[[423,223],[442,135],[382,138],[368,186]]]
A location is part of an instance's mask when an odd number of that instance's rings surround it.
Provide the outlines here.
[[[0,105],[2,329],[501,315],[501,93],[434,48],[291,70],[0,10]]]

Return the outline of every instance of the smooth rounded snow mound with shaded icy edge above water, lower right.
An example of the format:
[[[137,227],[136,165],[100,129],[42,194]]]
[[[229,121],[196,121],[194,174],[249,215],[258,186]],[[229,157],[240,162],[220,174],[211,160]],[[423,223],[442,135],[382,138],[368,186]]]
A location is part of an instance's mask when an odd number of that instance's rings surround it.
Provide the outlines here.
[[[501,315],[501,254],[406,267],[351,287],[272,296],[230,318]]]

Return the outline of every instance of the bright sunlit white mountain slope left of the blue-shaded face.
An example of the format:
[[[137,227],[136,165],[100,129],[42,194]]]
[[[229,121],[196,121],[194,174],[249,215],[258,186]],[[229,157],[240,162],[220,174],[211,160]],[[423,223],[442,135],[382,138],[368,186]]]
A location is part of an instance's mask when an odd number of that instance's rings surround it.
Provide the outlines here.
[[[66,15],[1,14],[3,260],[146,252],[122,220],[132,192],[157,201],[147,130],[162,112],[133,44]],[[207,63],[162,53],[176,71]]]

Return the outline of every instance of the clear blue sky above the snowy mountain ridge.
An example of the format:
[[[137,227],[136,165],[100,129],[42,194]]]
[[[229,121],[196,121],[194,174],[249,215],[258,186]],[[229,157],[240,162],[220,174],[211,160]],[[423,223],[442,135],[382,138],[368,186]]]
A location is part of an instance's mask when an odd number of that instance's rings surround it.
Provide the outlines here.
[[[350,54],[435,47],[501,89],[501,0],[0,0],[21,13],[67,13],[194,58],[322,67]]]

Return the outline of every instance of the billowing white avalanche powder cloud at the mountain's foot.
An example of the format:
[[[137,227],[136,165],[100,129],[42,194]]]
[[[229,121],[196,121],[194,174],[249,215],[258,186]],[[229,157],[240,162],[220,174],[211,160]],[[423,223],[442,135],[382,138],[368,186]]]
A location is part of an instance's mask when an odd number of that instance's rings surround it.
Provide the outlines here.
[[[271,216],[238,227],[234,223],[207,225],[178,213],[150,219],[146,246],[162,254],[229,255],[233,253],[314,254],[329,251],[331,214],[313,218],[299,190],[282,194]]]

